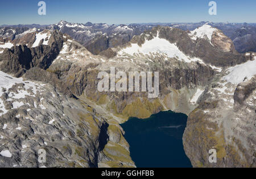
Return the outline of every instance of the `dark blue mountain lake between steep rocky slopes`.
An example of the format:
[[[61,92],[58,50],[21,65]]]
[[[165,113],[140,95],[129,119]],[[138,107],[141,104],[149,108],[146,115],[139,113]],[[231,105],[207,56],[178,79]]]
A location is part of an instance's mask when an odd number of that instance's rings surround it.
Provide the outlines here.
[[[137,167],[192,167],[182,136],[188,116],[164,111],[148,119],[130,118],[121,124]]]

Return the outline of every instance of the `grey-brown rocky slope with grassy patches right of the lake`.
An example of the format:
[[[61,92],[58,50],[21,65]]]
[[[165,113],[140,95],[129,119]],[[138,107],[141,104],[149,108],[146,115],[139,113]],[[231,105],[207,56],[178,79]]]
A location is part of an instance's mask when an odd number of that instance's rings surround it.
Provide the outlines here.
[[[213,82],[189,114],[185,152],[195,167],[255,167],[255,76],[238,85],[224,81]],[[209,163],[210,149],[217,163]]]

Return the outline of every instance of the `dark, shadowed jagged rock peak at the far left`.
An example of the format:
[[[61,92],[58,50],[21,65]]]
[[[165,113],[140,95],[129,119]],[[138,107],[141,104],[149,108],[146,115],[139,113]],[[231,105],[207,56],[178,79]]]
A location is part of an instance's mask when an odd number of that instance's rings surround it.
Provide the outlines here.
[[[63,37],[60,32],[48,31],[48,33],[51,34],[51,37],[46,39],[47,44],[44,43],[43,38],[39,39],[38,37],[38,40],[35,38],[35,34],[32,33],[32,38],[30,39],[31,44],[36,44],[36,40],[38,43],[31,48],[23,44],[18,46],[14,45],[14,47],[10,49],[6,48],[5,51],[0,54],[0,69],[3,72],[14,74],[16,77],[22,76],[26,70],[34,66],[47,69],[52,61],[56,59],[63,46]]]

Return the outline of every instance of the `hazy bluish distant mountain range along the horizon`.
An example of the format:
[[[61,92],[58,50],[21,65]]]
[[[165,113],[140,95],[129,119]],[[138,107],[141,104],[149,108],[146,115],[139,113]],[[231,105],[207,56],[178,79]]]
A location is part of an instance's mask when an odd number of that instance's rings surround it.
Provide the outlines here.
[[[139,24],[106,24],[106,23],[68,23],[61,20],[51,25],[26,24],[26,25],[2,25],[0,26],[0,38],[11,40],[29,29],[36,31],[44,29],[59,30],[70,35],[73,39],[84,45],[94,55],[100,54],[108,48],[117,47],[130,41],[134,35],[151,30],[156,26],[168,26],[180,28],[184,31],[193,31],[203,24],[209,24],[221,30],[232,39],[235,48],[240,53],[256,52],[256,23],[139,23]]]

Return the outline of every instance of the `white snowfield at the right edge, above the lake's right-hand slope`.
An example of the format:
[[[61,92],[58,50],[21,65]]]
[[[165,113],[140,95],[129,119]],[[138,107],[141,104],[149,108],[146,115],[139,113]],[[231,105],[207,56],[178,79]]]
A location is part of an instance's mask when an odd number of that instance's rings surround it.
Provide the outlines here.
[[[229,74],[223,77],[224,80],[236,85],[243,82],[245,77],[250,80],[256,74],[256,57],[254,59],[253,61],[249,60],[246,63],[228,68]]]

